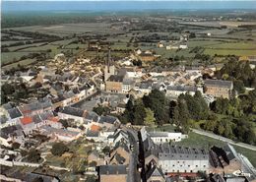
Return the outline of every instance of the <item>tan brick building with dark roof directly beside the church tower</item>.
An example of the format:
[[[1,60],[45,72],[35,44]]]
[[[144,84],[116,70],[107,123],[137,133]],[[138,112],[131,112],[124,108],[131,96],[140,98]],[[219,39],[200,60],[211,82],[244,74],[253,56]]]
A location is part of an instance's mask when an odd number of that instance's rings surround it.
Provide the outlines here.
[[[105,91],[122,92],[124,76],[111,75],[105,82]]]

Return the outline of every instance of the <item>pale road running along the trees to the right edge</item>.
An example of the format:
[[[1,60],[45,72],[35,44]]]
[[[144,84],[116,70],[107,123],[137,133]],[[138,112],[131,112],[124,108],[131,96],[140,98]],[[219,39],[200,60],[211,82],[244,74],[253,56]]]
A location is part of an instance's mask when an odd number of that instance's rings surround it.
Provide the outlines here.
[[[213,134],[211,132],[206,132],[206,131],[197,130],[197,129],[192,129],[192,131],[194,133],[199,134],[199,135],[204,135],[204,136],[207,136],[207,137],[210,137],[210,138],[213,138],[213,139],[224,141],[224,142],[229,143],[229,144],[234,145],[234,146],[239,146],[241,148],[245,148],[245,149],[248,149],[248,150],[251,150],[251,151],[256,151],[256,147],[255,146],[244,144],[244,143],[236,143],[236,142],[234,142],[234,141],[232,141],[230,139],[224,138],[224,137],[222,137],[220,135]]]

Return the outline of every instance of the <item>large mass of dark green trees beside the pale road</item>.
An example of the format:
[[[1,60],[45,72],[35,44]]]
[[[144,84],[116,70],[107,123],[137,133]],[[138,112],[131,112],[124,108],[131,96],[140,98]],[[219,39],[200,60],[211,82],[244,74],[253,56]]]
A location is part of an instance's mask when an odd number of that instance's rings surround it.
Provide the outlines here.
[[[177,101],[169,101],[164,92],[153,90],[142,98],[131,97],[120,120],[148,126],[172,123],[183,133],[188,133],[189,128],[200,121],[200,127],[205,130],[255,144],[255,105],[256,91],[230,100],[218,98],[209,107],[200,91],[196,91],[193,96],[189,93],[180,94]]]

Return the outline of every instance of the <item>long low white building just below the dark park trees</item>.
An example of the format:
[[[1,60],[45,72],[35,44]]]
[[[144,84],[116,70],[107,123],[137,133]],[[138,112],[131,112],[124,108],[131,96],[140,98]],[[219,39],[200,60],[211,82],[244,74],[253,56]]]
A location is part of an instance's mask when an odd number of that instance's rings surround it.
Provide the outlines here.
[[[149,135],[155,144],[180,142],[182,139],[187,138],[187,135],[182,133],[150,132]]]

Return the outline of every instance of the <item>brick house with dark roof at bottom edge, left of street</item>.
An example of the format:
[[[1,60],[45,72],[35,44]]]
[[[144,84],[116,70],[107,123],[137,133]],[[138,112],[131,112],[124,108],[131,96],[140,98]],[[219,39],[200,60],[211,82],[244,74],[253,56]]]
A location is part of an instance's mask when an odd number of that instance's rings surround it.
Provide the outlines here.
[[[99,182],[127,182],[127,165],[100,165],[97,170]]]

